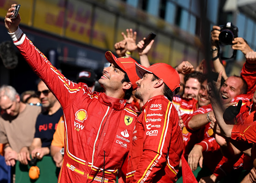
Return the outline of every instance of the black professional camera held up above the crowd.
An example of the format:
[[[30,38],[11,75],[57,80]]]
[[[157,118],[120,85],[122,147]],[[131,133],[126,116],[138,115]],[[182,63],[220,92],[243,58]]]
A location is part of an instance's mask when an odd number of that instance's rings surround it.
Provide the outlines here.
[[[231,22],[226,25],[219,26],[221,33],[219,34],[219,43],[222,45],[232,45],[235,37],[238,37],[238,28]]]

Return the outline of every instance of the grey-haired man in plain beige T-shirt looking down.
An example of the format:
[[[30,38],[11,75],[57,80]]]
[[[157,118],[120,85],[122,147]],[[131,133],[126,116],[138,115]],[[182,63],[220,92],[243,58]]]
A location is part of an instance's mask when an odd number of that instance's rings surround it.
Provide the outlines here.
[[[14,166],[18,152],[32,143],[41,107],[21,102],[16,90],[5,85],[0,87],[0,107],[0,143],[5,144],[6,164]]]

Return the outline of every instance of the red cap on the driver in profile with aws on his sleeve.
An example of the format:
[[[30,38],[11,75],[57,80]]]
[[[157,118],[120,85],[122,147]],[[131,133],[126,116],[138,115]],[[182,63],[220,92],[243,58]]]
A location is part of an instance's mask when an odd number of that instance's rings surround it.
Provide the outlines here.
[[[146,72],[155,74],[160,79],[163,79],[163,82],[172,92],[180,87],[180,76],[178,72],[166,63],[155,63],[149,67],[144,67],[136,63],[136,72],[140,78],[142,78]]]

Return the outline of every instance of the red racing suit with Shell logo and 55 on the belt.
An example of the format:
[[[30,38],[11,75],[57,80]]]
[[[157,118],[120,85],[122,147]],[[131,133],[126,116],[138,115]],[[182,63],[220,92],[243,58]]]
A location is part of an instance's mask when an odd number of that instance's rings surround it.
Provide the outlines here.
[[[85,83],[65,78],[19,28],[11,36],[63,108],[65,154],[58,182],[115,183],[129,153],[137,111],[124,99],[91,93]]]

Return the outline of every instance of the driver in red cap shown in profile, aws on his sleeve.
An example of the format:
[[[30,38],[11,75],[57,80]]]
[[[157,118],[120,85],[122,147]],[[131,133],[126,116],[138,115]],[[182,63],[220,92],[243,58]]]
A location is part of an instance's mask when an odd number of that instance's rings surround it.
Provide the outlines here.
[[[135,96],[144,106],[133,130],[126,181],[176,182],[183,142],[171,101],[179,92],[179,74],[165,63],[147,68],[137,64],[136,69],[142,79]]]

